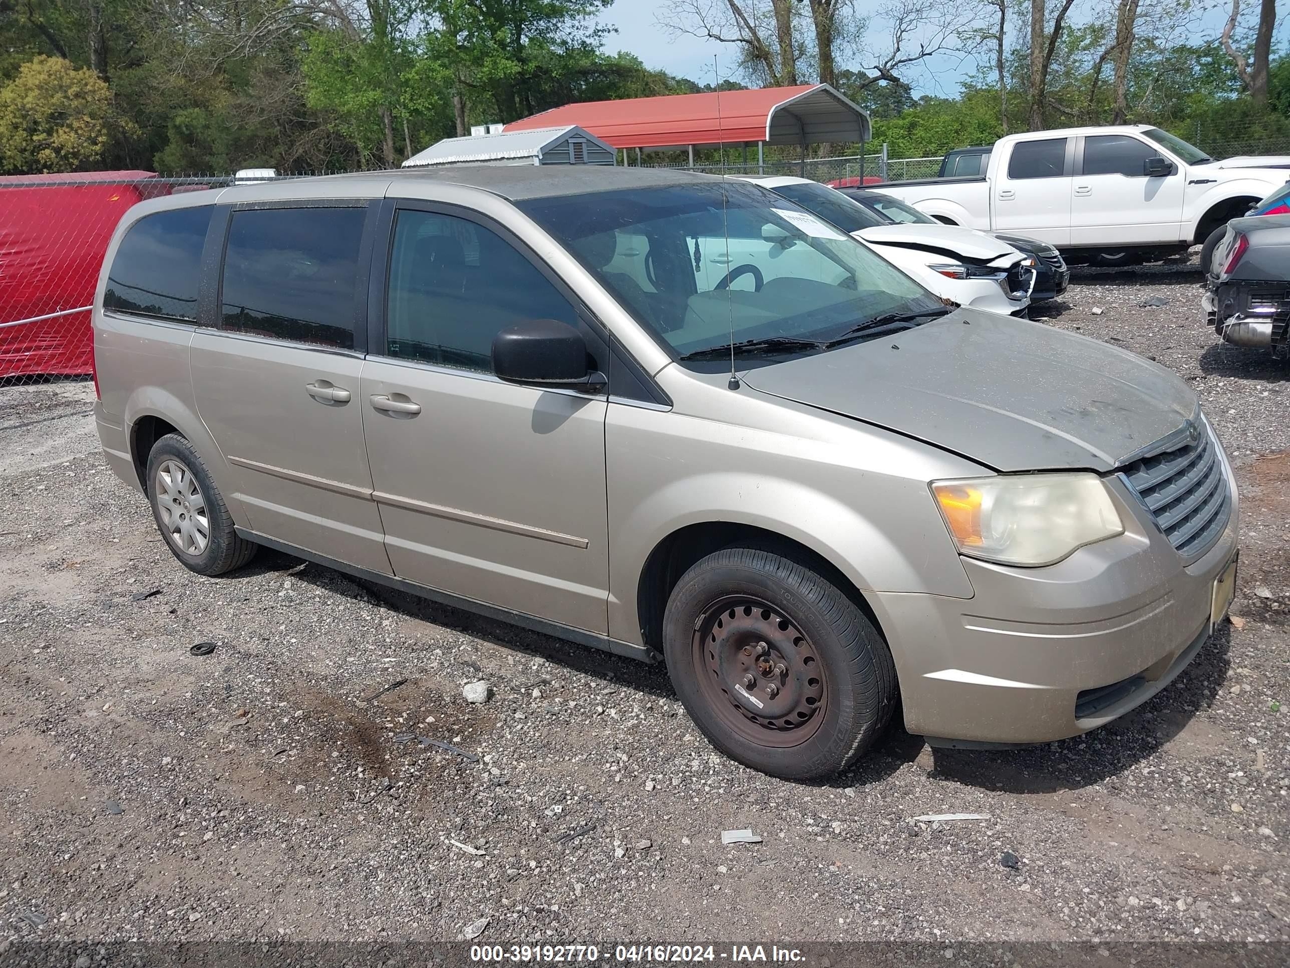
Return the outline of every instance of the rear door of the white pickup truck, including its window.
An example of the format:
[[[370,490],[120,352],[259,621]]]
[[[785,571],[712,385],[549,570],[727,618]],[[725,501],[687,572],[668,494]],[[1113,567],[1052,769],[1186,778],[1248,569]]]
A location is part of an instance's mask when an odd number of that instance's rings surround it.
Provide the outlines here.
[[[1069,138],[1018,141],[991,181],[995,230],[1071,244]]]

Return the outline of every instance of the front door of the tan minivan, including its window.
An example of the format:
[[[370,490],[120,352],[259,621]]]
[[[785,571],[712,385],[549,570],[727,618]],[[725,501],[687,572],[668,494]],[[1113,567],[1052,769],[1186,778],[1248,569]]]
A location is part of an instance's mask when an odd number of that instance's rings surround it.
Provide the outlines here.
[[[502,230],[387,205],[388,265],[373,271],[384,327],[361,408],[395,574],[605,634],[606,400],[504,383],[491,368],[493,337],[528,319],[582,329],[601,369],[604,342]]]

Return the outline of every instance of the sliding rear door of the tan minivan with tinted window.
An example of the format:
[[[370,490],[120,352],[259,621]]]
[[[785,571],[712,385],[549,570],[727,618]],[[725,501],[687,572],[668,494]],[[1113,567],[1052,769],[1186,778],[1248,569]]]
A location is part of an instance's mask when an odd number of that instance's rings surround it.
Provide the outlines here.
[[[390,573],[362,439],[365,201],[235,209],[190,359],[221,487],[259,534]],[[372,208],[375,221],[375,208]]]

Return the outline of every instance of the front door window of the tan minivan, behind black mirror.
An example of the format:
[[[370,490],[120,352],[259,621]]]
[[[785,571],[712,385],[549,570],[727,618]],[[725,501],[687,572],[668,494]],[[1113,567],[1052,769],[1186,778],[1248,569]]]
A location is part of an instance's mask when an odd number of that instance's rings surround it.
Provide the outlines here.
[[[578,314],[515,247],[476,222],[404,209],[395,219],[386,355],[493,372],[493,337]]]

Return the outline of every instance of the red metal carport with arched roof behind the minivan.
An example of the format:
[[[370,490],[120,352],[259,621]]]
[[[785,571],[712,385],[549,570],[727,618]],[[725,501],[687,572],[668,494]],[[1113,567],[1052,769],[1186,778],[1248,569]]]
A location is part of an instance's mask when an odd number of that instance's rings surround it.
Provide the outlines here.
[[[615,148],[689,148],[717,145],[866,142],[869,116],[828,84],[722,90],[565,105],[506,125],[506,130],[577,124]],[[862,148],[863,151],[863,148]]]

